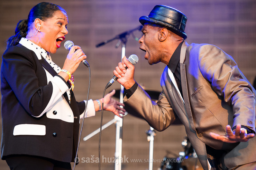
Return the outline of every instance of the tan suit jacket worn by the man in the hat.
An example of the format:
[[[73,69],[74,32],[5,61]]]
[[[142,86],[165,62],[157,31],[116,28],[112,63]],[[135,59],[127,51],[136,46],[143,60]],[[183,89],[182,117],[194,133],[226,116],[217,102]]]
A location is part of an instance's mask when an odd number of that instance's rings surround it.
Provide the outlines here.
[[[255,131],[256,91],[234,59],[214,45],[183,43],[180,71],[184,103],[166,66],[157,103],[138,86],[129,99],[124,98],[127,111],[140,115],[158,131],[179,118],[204,169],[208,169],[205,144],[228,152],[224,158],[228,168],[255,162],[256,137],[228,144],[209,135],[225,135],[227,125],[237,124]]]

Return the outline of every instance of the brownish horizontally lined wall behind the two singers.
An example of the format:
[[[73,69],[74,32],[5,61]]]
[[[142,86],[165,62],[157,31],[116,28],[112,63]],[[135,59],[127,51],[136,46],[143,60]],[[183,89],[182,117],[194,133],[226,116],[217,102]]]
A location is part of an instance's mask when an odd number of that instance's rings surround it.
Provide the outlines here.
[[[5,50],[6,39],[14,34],[16,24],[21,19],[26,19],[29,10],[41,1],[38,0],[4,0],[0,2],[0,55]],[[148,15],[156,4],[164,4],[182,11],[187,17],[185,32],[188,34],[188,43],[214,44],[234,57],[240,70],[247,79],[253,83],[256,76],[256,1],[255,0],[51,0],[63,7],[68,14],[69,34],[66,40],[82,47],[87,55],[91,67],[90,98],[97,99],[103,95],[103,90],[112,78],[113,70],[121,60],[121,46],[116,48],[118,40],[96,48],[95,45],[114,38],[117,34],[134,29],[140,25],[138,19]],[[139,62],[136,64],[136,81],[146,90],[161,91],[160,76],[165,67],[158,63],[150,66],[144,59],[145,52],[138,49],[141,32],[135,31],[128,37],[126,56],[136,54]],[[53,61],[63,66],[67,51],[63,47],[52,54]],[[74,93],[77,100],[84,100],[87,95],[89,71],[80,65],[74,74]],[[114,83],[107,92],[120,89]],[[107,94],[107,93],[106,93]],[[118,100],[118,98],[116,98]],[[86,118],[82,138],[100,127],[98,112],[95,117]],[[113,114],[104,112],[103,125],[114,118]],[[146,130],[149,125],[141,119],[131,115],[123,119],[122,157],[130,159],[148,159],[149,142]],[[12,129],[10,129],[12,130]],[[115,153],[116,127],[111,125],[102,131],[101,157],[113,158]],[[163,132],[156,132],[154,141],[153,169],[160,167],[159,160],[169,154],[175,157],[183,151],[181,142],[185,137],[181,125],[172,125]],[[81,140],[79,157],[98,157],[99,134],[87,141]],[[158,161],[158,162],[157,162]],[[186,162],[195,160],[189,159]],[[185,162],[185,161],[184,161]],[[192,163],[188,163],[193,167]],[[114,163],[101,163],[104,170],[114,169]],[[8,169],[5,161],[0,160],[0,169]],[[77,170],[98,169],[98,163],[79,163]],[[123,170],[145,170],[148,162],[122,164]]]

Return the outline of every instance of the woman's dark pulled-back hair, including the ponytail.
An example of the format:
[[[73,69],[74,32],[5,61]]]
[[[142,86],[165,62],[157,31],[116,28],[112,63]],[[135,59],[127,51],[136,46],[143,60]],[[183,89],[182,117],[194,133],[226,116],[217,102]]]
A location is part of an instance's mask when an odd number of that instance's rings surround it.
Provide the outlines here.
[[[22,37],[26,37],[28,30],[33,25],[35,19],[39,18],[40,20],[45,21],[48,18],[52,18],[54,12],[58,10],[67,15],[66,11],[56,4],[48,2],[38,3],[30,10],[27,20],[20,20],[18,22],[15,29],[15,35],[7,40],[6,48],[8,49],[10,46],[17,45]]]

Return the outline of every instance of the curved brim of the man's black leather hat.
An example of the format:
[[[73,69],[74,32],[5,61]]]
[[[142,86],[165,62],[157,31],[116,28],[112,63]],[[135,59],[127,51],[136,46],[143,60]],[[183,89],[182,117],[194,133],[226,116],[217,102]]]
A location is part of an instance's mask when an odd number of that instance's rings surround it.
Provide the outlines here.
[[[150,18],[148,16],[140,17],[139,22],[142,25],[144,25],[145,23],[151,23],[151,24],[156,24],[156,25],[163,26],[163,27],[169,29],[170,31],[174,32],[175,34],[180,35],[182,38],[184,38],[184,40],[188,37],[187,34],[184,31],[177,30],[172,24],[167,23],[167,22],[163,22],[163,21],[159,21],[159,20],[156,20],[154,18]]]

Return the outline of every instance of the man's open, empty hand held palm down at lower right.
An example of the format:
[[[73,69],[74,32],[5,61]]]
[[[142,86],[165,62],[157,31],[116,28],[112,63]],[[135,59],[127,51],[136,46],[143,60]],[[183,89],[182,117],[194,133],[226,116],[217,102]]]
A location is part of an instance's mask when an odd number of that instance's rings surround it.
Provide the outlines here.
[[[213,132],[210,132],[210,136],[214,139],[221,140],[227,143],[235,143],[235,142],[247,142],[250,138],[253,138],[254,134],[246,134],[245,130],[240,130],[241,125],[238,124],[234,131],[231,130],[229,125],[226,126],[227,135],[218,135]]]

